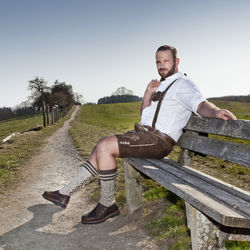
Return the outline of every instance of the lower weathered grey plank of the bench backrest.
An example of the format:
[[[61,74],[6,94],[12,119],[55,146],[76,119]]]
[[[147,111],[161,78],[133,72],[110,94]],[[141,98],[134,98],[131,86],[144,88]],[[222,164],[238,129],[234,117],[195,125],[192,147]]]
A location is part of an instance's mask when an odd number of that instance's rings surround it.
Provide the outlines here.
[[[250,146],[215,138],[183,133],[178,146],[250,167]]]

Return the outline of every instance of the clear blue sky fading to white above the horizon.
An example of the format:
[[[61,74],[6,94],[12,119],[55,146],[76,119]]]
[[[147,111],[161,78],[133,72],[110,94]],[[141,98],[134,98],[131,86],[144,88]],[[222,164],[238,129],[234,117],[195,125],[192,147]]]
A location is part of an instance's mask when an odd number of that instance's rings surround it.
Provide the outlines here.
[[[0,0],[0,107],[27,100],[36,76],[87,102],[143,96],[163,44],[205,97],[250,94],[249,0]]]

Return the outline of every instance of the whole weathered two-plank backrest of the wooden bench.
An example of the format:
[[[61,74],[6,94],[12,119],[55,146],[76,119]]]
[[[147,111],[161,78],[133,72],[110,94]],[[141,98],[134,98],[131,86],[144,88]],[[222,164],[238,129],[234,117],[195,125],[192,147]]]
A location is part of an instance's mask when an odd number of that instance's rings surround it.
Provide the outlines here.
[[[215,138],[207,134],[219,135]],[[225,137],[245,142],[226,140]],[[191,116],[177,142],[183,149],[221,158],[250,167],[250,120],[205,119]]]

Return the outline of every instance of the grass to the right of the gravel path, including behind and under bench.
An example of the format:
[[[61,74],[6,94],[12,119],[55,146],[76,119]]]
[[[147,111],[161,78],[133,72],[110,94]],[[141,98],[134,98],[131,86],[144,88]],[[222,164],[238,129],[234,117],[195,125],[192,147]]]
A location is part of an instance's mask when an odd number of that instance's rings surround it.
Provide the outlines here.
[[[250,105],[246,103],[214,102],[221,108],[232,111],[239,119],[250,119]],[[140,120],[140,103],[86,105],[82,107],[70,133],[75,145],[84,158],[87,158],[93,146],[102,136],[122,133],[133,128],[134,122]],[[177,159],[179,148],[175,147],[169,158]],[[203,167],[200,167],[202,163]],[[119,206],[125,204],[124,173],[122,159],[118,159],[118,177],[116,181],[116,200]],[[209,157],[195,157],[194,168],[216,176],[243,189],[250,189],[250,171],[235,164],[226,163]],[[89,186],[94,190],[93,199],[99,197],[96,182]],[[151,180],[143,181],[145,228],[156,240],[162,242],[164,249],[190,249],[190,236],[186,227],[183,200],[157,185]],[[162,209],[158,209],[162,207]],[[156,207],[158,210],[152,210]],[[248,243],[227,242],[227,249],[249,249]]]

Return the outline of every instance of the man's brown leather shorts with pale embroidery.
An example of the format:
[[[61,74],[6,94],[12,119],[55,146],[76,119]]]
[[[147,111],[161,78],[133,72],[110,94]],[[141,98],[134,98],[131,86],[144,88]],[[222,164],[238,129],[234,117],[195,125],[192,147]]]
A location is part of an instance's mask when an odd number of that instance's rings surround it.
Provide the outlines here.
[[[162,159],[172,151],[175,145],[175,141],[170,136],[137,123],[135,123],[134,130],[115,136],[121,158]]]

